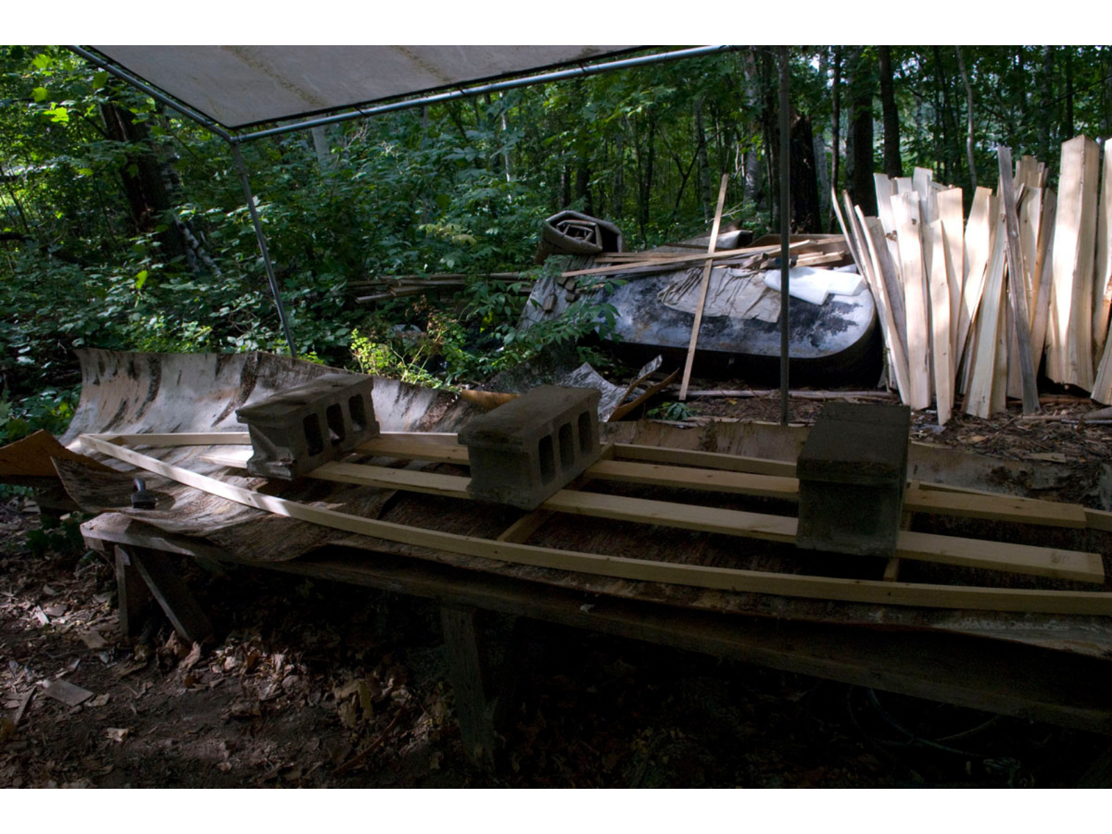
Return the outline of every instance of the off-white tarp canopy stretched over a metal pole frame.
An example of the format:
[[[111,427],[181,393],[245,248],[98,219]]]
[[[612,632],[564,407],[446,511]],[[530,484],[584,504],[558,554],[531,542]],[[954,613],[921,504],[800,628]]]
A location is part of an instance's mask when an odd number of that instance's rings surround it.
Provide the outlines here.
[[[226,128],[594,60],[628,47],[93,47]]]

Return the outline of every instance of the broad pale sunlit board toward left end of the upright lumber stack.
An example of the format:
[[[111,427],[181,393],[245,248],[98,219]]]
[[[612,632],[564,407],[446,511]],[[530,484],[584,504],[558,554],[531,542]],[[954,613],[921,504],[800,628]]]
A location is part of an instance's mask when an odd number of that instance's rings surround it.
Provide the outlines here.
[[[919,198],[914,193],[893,197],[892,214],[896,220],[904,304],[907,312],[907,386],[911,389],[907,405],[919,410],[931,405],[931,337],[926,285],[923,276],[923,251],[919,235]]]

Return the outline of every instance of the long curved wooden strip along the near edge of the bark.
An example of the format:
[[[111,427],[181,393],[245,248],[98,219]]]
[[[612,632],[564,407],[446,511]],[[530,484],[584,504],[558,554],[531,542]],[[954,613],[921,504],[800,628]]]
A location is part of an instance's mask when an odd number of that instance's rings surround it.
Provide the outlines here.
[[[172,478],[181,484],[217,495],[228,500],[256,507],[276,515],[298,518],[359,535],[375,536],[448,553],[480,558],[500,559],[514,564],[535,565],[563,570],[615,576],[624,579],[671,582],[679,585],[717,588],[742,593],[782,594],[817,599],[922,605],[927,607],[969,608],[982,610],[1042,612],[1050,614],[1112,614],[1112,594],[1075,590],[1025,590],[980,588],[950,585],[912,585],[863,579],[841,579],[821,576],[775,574],[759,570],[704,567],[618,556],[556,550],[492,539],[460,536],[436,530],[423,530],[406,525],[363,518],[331,509],[310,507],[297,502],[264,495],[231,484],[189,471],[178,466],[141,455],[113,444],[86,436],[86,441],[101,454],[125,460],[132,466]]]

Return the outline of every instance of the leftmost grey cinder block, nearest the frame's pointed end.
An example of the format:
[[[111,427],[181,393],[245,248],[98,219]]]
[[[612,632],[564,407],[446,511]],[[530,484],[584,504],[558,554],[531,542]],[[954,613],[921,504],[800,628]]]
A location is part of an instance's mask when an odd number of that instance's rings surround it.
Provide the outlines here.
[[[236,411],[255,454],[251,475],[292,479],[378,437],[375,378],[326,374]]]

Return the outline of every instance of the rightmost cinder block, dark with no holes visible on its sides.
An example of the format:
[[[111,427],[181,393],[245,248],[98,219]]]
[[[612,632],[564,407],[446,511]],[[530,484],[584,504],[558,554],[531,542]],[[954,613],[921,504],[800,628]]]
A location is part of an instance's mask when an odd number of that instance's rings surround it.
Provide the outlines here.
[[[907,483],[907,406],[827,403],[800,453],[795,544],[892,556]]]

